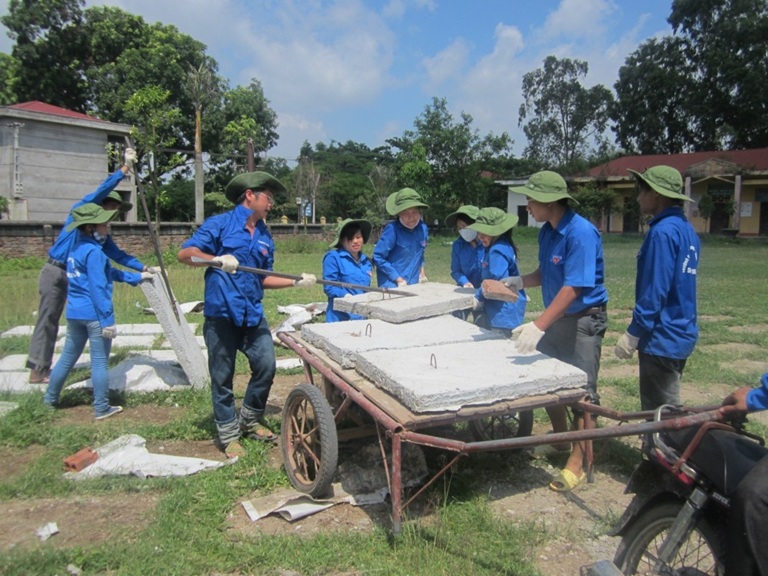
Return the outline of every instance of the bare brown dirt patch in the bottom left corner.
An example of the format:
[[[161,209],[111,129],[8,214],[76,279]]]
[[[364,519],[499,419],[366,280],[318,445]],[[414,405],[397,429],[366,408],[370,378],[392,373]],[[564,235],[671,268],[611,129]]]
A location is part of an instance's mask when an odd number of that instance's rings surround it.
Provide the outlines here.
[[[0,550],[124,542],[149,524],[155,504],[156,498],[146,494],[0,502]],[[59,533],[41,542],[36,532],[49,522],[57,524]]]

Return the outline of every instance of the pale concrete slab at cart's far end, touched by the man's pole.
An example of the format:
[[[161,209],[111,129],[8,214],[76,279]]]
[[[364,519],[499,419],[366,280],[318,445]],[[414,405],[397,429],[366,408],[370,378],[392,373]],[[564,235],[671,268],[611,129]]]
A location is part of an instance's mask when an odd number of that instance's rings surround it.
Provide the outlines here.
[[[472,308],[475,290],[455,284],[425,282],[406,286],[414,296],[392,296],[379,292],[347,295],[337,298],[334,309],[377,318],[393,324],[450,314],[455,310]]]

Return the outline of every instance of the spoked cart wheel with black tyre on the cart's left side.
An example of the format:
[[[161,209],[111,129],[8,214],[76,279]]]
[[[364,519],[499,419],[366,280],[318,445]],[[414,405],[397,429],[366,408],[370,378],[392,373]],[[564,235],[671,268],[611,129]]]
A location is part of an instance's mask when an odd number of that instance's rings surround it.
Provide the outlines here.
[[[315,386],[300,384],[288,394],[280,443],[294,488],[313,497],[325,494],[339,461],[339,442],[331,407]]]

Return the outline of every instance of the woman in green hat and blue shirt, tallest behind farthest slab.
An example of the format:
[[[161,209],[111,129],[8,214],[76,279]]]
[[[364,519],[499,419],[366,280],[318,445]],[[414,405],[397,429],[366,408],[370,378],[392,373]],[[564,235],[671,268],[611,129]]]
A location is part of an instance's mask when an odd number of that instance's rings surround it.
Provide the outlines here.
[[[396,216],[384,230],[373,249],[376,280],[381,288],[394,288],[426,282],[424,254],[429,230],[421,209],[429,208],[412,188],[389,195],[386,204],[390,216]]]

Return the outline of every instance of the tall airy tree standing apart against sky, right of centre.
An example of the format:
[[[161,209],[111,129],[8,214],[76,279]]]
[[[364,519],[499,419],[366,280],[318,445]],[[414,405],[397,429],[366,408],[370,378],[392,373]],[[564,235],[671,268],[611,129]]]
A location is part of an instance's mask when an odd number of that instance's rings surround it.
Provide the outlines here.
[[[613,96],[602,84],[582,86],[587,72],[583,60],[547,56],[523,76],[518,125],[528,137],[526,157],[567,170],[605,139]]]

